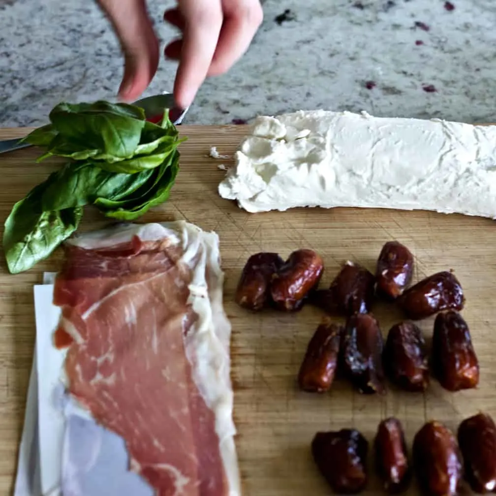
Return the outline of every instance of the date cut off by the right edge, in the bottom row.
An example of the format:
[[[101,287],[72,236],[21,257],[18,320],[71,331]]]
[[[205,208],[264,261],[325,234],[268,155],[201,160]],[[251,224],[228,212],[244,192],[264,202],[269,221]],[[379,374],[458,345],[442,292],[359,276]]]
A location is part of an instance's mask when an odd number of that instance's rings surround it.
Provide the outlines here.
[[[496,425],[485,413],[465,419],[458,427],[458,445],[465,476],[476,493],[496,489]]]

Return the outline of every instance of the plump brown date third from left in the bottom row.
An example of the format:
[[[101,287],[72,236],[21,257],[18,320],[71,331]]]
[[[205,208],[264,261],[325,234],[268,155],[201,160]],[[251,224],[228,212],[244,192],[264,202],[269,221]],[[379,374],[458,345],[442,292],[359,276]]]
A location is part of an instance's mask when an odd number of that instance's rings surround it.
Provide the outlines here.
[[[432,421],[415,434],[413,463],[421,490],[431,496],[455,496],[463,475],[460,450],[453,433]]]

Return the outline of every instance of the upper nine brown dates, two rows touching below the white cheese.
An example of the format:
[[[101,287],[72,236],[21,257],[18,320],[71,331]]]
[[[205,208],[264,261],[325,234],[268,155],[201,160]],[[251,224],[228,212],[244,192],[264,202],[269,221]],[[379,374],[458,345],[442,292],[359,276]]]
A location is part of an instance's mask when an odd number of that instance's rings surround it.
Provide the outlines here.
[[[410,250],[391,241],[379,254],[375,275],[347,262],[328,289],[317,289],[324,265],[315,251],[296,250],[286,261],[277,253],[257,253],[243,269],[236,301],[249,310],[283,311],[300,310],[308,302],[347,318],[344,326],[324,319],[310,339],[298,374],[305,391],[327,391],[338,366],[363,393],[384,392],[385,375],[403,389],[424,391],[429,385],[428,353],[412,320],[436,313],[434,375],[449,391],[476,387],[479,363],[468,325],[458,313],[465,302],[459,281],[442,271],[407,289],[413,267]],[[395,301],[410,319],[394,325],[385,343],[371,313],[377,296]]]

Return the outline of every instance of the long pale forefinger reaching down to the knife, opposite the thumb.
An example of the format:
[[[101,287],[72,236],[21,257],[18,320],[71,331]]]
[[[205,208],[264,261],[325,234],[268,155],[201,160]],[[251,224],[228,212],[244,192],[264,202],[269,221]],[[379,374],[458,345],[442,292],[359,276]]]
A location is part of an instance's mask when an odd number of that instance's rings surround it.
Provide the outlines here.
[[[177,105],[186,108],[208,73],[222,27],[222,9],[220,0],[183,0],[179,6],[185,26],[174,96]]]

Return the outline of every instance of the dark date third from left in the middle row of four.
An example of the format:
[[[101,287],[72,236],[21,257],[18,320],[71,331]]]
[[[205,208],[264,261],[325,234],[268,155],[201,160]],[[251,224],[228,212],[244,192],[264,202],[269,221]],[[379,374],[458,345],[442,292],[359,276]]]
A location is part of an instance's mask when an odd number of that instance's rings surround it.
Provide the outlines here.
[[[413,322],[393,325],[382,353],[384,372],[406,391],[425,391],[429,386],[429,360],[422,331]]]

